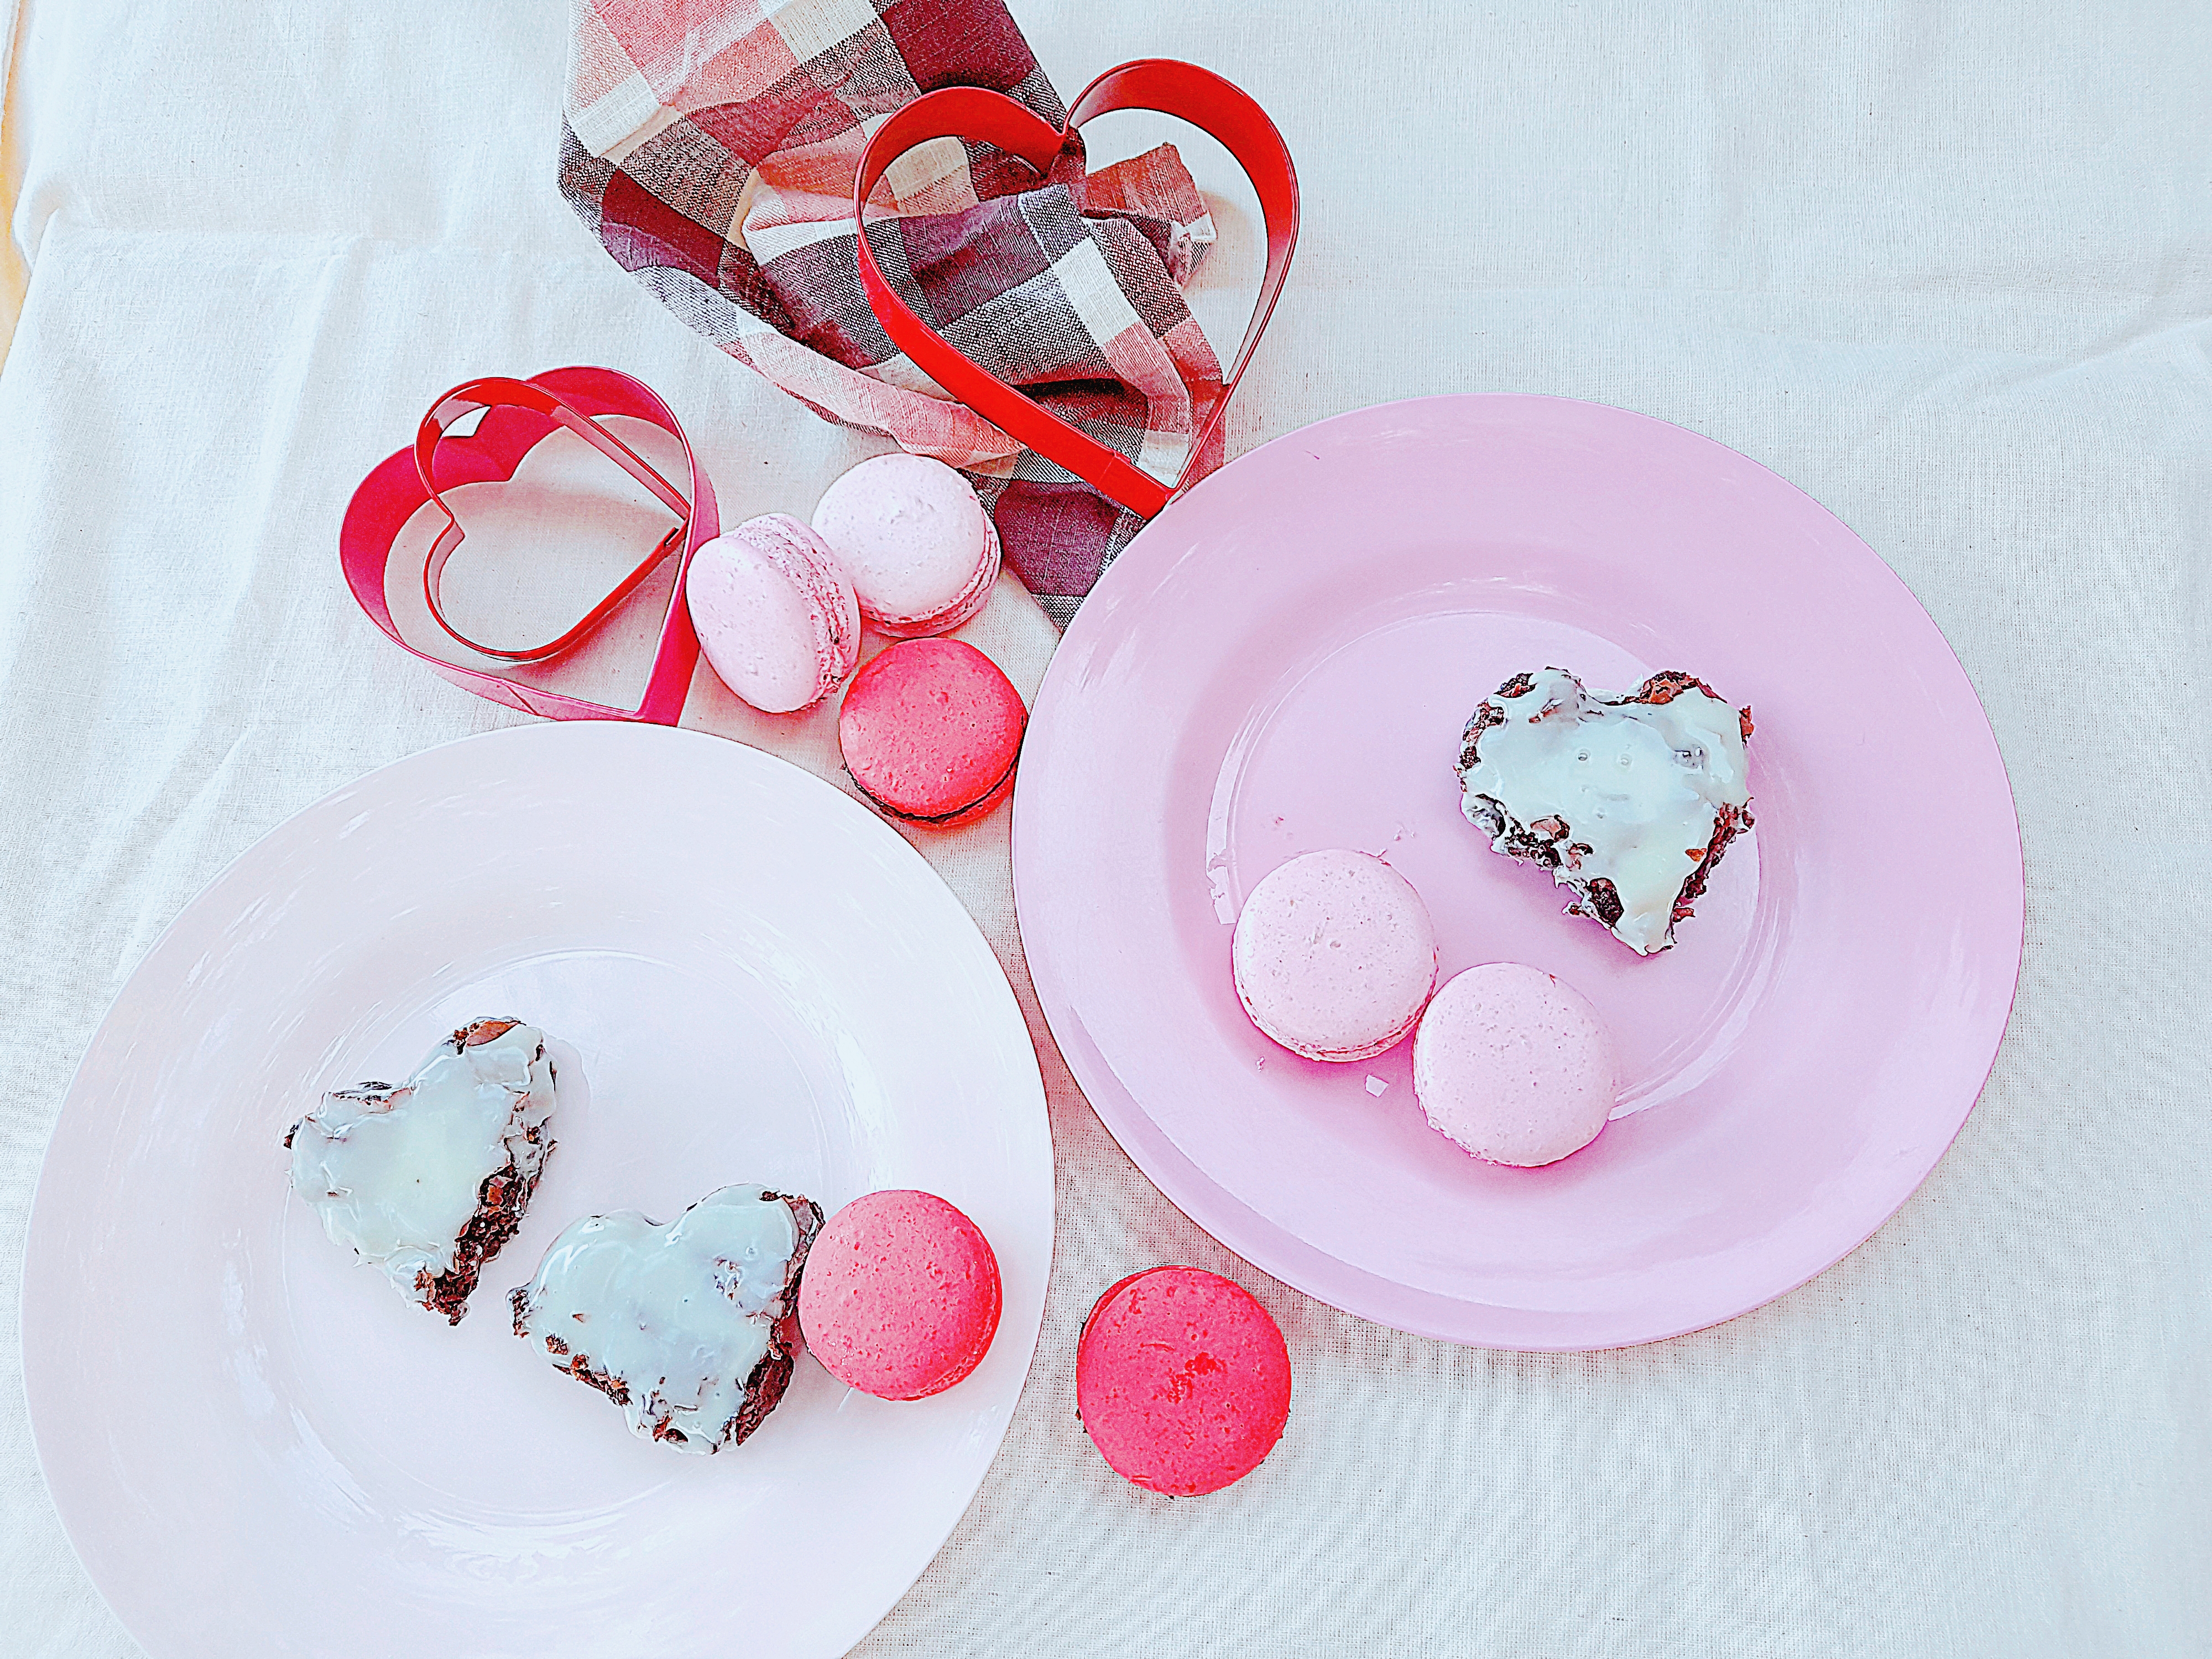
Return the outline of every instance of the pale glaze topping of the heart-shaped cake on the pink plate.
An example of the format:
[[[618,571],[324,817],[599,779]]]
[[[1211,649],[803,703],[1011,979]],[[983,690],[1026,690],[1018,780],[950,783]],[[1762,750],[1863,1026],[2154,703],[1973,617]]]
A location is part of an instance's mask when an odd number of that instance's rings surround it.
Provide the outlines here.
[[[1548,865],[1582,896],[1579,914],[1595,914],[1590,883],[1610,880],[1615,938],[1639,956],[1668,949],[1674,900],[1723,807],[1752,801],[1743,717],[1699,686],[1628,701],[1635,692],[1586,690],[1564,668],[1524,679],[1526,692],[1484,699],[1469,723],[1467,821],[1495,852]]]

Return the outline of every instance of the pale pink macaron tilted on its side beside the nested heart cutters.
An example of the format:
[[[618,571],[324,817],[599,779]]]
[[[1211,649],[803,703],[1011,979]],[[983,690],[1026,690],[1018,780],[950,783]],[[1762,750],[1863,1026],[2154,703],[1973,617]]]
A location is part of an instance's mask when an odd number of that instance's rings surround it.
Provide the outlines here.
[[[721,684],[765,714],[812,708],[860,661],[860,606],[836,553],[787,513],[692,553],[684,599]]]

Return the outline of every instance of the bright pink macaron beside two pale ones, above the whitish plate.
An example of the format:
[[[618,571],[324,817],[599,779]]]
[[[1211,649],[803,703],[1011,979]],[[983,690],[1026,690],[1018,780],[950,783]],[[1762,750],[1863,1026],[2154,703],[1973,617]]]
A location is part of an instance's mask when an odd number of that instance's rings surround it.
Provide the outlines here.
[[[1029,710],[960,639],[902,639],[852,677],[836,741],[860,792],[896,818],[956,825],[1013,792]]]

